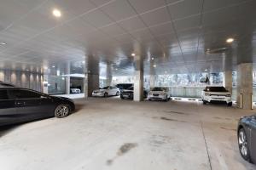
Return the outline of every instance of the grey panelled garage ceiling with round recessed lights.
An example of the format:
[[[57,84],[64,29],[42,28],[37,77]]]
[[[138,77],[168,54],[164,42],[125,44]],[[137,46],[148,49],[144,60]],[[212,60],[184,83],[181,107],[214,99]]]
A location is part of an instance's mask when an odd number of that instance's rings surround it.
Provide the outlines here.
[[[235,70],[256,59],[255,8],[255,0],[0,0],[0,68],[85,59],[119,76],[131,74],[135,53],[157,74]]]

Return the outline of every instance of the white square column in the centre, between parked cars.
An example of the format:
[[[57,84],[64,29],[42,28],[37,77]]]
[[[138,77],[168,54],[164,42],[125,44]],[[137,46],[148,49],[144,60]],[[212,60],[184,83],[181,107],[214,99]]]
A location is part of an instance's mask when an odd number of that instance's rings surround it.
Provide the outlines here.
[[[133,88],[133,100],[134,101],[143,101],[143,82],[144,82],[144,71],[143,71],[143,59],[140,59],[139,56],[136,57],[135,61],[135,80]]]

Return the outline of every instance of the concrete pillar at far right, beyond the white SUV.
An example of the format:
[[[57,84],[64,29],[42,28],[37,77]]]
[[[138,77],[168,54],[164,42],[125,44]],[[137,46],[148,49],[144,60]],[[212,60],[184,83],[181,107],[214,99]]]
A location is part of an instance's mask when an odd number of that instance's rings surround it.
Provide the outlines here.
[[[236,85],[237,107],[245,110],[252,109],[253,103],[253,64],[241,63],[237,65]]]

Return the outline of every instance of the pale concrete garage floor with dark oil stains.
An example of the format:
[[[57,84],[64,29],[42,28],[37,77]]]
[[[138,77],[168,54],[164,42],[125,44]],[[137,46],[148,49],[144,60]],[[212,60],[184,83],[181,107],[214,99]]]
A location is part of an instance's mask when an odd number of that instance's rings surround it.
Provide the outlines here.
[[[4,170],[245,170],[236,142],[241,111],[197,101],[76,99],[78,110],[0,130]]]

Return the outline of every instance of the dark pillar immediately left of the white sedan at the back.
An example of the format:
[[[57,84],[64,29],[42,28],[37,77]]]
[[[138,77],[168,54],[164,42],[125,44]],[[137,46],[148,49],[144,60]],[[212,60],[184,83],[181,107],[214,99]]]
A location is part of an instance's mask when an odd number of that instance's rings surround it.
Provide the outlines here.
[[[84,75],[84,97],[91,97],[93,90],[99,88],[99,75],[86,73]]]

